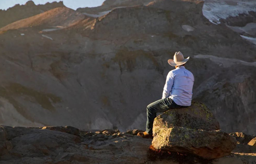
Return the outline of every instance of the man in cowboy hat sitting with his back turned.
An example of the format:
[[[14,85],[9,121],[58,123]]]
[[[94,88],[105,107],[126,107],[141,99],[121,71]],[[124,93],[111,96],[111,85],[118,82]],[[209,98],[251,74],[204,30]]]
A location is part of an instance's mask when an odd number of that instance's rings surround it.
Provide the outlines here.
[[[176,69],[171,70],[167,75],[162,99],[147,106],[146,131],[139,132],[138,136],[143,138],[153,137],[152,128],[156,113],[165,112],[166,110],[174,108],[184,108],[191,105],[194,76],[184,67],[188,60],[189,57],[184,59],[181,52],[176,52],[174,54],[174,60],[168,60],[168,63],[171,66],[175,66]]]

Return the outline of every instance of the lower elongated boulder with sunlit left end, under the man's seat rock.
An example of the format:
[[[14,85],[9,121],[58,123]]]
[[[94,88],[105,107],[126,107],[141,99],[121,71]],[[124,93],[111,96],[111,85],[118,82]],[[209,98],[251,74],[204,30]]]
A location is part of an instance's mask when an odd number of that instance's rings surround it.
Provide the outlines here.
[[[152,146],[157,150],[195,154],[207,159],[216,159],[230,155],[230,152],[236,147],[236,138],[220,130],[162,128],[155,134]]]

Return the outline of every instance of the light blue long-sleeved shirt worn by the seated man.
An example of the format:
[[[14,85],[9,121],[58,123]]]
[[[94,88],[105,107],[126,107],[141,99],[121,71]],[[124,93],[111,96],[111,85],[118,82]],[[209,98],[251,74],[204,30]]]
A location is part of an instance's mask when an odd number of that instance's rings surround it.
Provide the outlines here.
[[[162,98],[170,97],[178,105],[190,106],[193,85],[193,74],[184,66],[178,66],[168,73]]]

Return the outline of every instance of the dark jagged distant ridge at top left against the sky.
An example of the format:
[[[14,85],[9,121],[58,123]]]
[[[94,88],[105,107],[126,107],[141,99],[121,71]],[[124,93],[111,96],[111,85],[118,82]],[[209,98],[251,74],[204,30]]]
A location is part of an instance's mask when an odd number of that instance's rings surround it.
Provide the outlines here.
[[[35,5],[33,1],[28,1],[25,5],[16,4],[7,10],[0,10],[0,28],[17,20],[35,16],[37,14],[46,12],[53,8],[64,7],[62,1],[46,3],[44,5]]]

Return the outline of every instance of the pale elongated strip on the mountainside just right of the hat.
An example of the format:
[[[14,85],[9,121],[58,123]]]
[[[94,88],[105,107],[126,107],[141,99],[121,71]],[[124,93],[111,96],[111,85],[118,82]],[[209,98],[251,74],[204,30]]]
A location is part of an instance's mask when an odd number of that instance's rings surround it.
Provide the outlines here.
[[[256,62],[245,62],[243,60],[239,60],[239,59],[232,59],[232,58],[222,58],[222,57],[218,57],[218,56],[212,56],[212,55],[195,55],[194,58],[208,58],[211,61],[219,64],[219,66],[223,66],[225,68],[230,67],[234,64],[243,64],[246,66],[255,66],[256,67]]]

